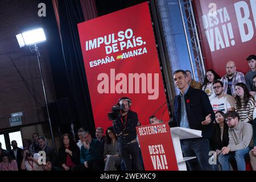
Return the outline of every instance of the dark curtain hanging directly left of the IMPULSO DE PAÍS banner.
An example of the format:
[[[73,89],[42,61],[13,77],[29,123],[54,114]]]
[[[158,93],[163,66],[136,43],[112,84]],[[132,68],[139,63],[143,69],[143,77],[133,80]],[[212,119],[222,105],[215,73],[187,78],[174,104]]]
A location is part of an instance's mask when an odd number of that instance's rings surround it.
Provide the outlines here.
[[[95,131],[77,23],[84,22],[80,1],[59,1],[60,31],[69,92],[81,127]],[[94,132],[92,132],[94,133]]]

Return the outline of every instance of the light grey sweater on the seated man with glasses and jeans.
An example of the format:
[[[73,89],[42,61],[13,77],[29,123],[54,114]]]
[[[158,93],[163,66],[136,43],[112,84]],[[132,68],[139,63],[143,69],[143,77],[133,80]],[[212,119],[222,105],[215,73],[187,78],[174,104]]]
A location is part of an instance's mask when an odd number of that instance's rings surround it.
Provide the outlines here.
[[[250,123],[239,121],[238,125],[229,128],[229,145],[230,151],[245,149],[249,146],[253,138],[253,127]]]

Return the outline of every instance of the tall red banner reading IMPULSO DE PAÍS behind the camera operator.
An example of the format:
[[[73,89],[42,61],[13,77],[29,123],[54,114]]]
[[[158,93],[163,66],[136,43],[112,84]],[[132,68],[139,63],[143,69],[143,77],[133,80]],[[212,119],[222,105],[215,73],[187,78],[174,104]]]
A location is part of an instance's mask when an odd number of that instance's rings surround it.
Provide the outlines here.
[[[78,24],[96,127],[111,126],[108,113],[121,97],[143,125],[166,103],[147,3]],[[156,116],[168,121],[164,105]],[[86,122],[86,121],[85,121]]]

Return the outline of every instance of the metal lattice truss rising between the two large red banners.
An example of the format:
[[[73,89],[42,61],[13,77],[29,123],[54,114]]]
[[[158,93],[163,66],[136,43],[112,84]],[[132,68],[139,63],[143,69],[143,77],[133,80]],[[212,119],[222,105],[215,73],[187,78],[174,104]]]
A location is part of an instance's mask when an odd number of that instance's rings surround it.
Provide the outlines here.
[[[192,75],[196,81],[203,83],[205,67],[200,47],[200,40],[196,29],[197,24],[193,13],[192,2],[191,0],[178,1],[188,47],[189,60],[191,62]]]

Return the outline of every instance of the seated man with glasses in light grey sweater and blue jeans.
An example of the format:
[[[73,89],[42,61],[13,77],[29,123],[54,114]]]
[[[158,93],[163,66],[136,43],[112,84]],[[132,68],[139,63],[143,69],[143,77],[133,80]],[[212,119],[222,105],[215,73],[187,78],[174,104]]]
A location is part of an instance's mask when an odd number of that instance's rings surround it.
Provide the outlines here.
[[[250,151],[249,144],[253,138],[253,127],[250,123],[240,121],[235,111],[228,111],[225,119],[229,127],[229,144],[221,149],[218,162],[223,171],[230,171],[229,162],[236,160],[238,171],[245,171],[245,156]]]

